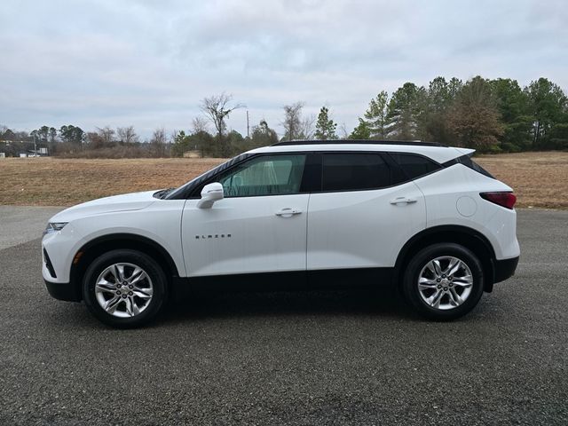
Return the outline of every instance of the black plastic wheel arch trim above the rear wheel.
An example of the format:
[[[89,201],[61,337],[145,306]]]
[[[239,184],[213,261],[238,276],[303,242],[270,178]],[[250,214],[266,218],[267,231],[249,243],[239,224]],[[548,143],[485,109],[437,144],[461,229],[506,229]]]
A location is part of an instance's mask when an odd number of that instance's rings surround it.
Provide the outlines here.
[[[495,252],[491,242],[482,233],[475,229],[461,225],[440,225],[416,233],[398,253],[395,264],[395,283],[401,282],[405,271],[405,265],[422,248],[441,242],[453,242],[469,248],[479,259],[484,270],[484,290],[488,293],[493,291]]]

